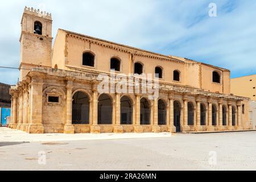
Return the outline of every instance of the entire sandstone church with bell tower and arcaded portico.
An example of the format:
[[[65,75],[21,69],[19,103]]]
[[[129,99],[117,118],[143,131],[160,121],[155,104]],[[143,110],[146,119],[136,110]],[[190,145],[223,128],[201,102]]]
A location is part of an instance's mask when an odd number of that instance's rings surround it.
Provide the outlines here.
[[[67,134],[251,129],[249,98],[230,94],[228,69],[61,29],[52,48],[51,14],[27,7],[21,24],[20,82],[10,90],[13,129]],[[117,80],[129,75],[129,92],[120,93]],[[103,81],[104,93],[102,76],[115,77]],[[155,92],[143,92],[145,85]]]

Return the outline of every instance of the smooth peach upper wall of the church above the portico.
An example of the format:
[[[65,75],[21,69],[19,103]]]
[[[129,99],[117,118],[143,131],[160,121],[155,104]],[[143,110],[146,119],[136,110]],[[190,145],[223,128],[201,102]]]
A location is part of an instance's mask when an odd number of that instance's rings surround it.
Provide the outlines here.
[[[82,65],[82,54],[84,52],[90,52],[95,56],[94,67]],[[53,46],[52,67],[55,68],[57,65],[59,69],[69,70],[70,67],[76,67],[109,73],[110,59],[112,57],[117,57],[121,60],[120,73],[125,73],[126,75],[134,72],[134,64],[138,62],[143,65],[143,73],[151,73],[152,76],[155,74],[156,67],[162,68],[163,78],[160,78],[160,82],[204,89],[209,92],[230,93],[229,71],[225,69],[196,61],[172,61],[171,58],[170,60],[160,60],[154,57],[134,54],[131,56],[130,53],[89,43],[82,38],[67,36],[64,30],[59,30],[55,46]],[[174,71],[180,72],[180,81],[174,81]],[[220,84],[213,82],[213,71],[217,71],[220,74]]]

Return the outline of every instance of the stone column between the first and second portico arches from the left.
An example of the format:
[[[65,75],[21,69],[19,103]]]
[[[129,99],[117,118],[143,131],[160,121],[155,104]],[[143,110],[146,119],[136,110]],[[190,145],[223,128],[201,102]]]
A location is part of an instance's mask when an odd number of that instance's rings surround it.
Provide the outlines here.
[[[98,125],[98,90],[97,90],[97,82],[94,82],[92,85],[93,90],[93,124],[90,126],[90,133],[100,134],[101,127]]]

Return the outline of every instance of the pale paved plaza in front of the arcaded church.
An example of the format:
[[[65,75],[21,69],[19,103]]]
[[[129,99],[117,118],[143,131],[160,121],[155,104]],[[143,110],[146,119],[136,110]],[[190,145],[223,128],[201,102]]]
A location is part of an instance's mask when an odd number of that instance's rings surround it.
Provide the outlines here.
[[[1,128],[0,160],[0,170],[256,170],[256,132],[95,137]]]

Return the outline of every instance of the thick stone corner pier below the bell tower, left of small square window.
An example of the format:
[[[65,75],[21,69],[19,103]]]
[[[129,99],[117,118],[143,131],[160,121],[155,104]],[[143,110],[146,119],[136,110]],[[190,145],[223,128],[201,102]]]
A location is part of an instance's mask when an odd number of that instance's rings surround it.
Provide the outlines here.
[[[28,125],[28,133],[43,134],[44,127],[42,125],[42,107],[43,107],[43,74],[30,73],[32,80],[31,100],[30,100],[30,125]]]

